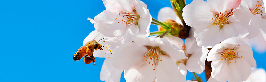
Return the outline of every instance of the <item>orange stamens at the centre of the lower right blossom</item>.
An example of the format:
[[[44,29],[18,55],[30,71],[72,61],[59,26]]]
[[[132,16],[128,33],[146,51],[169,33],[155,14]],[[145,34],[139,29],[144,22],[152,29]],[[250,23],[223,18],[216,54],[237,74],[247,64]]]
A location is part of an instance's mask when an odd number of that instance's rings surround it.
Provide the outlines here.
[[[233,49],[225,49],[221,53],[221,60],[225,59],[227,63],[231,63],[234,58],[243,58],[243,56],[239,57],[238,51],[233,50]],[[236,63],[236,60],[234,61]]]

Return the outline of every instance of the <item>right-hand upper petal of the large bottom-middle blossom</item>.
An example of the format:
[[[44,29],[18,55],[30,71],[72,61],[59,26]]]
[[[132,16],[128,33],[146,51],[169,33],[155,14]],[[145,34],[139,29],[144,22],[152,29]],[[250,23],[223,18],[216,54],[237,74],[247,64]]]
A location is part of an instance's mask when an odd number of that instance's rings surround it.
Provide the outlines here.
[[[177,37],[176,37],[177,38]],[[156,39],[156,38],[155,38]],[[159,48],[168,56],[170,56],[173,59],[180,60],[180,59],[186,59],[185,53],[183,50],[179,49],[178,47],[172,45],[169,43],[169,41],[166,38],[161,38],[164,45],[159,46]]]

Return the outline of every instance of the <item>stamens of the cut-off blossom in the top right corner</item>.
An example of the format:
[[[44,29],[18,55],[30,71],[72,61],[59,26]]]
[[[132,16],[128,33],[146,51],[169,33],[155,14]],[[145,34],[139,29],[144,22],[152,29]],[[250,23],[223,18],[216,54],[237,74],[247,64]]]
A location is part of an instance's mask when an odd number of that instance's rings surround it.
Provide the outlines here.
[[[263,12],[264,8],[264,5],[262,3],[262,0],[261,2],[260,1],[257,1],[252,8],[249,8],[250,12],[253,14],[253,15],[256,15],[256,14],[260,14],[261,16],[264,16],[265,15],[265,12]]]

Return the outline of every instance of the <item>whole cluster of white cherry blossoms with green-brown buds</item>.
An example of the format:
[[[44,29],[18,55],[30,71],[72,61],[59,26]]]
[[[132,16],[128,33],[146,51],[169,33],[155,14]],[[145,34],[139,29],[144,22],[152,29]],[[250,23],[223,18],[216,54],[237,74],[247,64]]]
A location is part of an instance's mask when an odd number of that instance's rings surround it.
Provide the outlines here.
[[[160,9],[151,17],[140,0],[103,0],[106,10],[88,18],[94,23],[83,45],[96,35],[104,40],[106,58],[100,79],[119,82],[202,82],[211,62],[208,82],[265,82],[265,70],[256,69],[250,46],[266,51],[266,15],[262,0],[170,0],[173,9]],[[150,25],[158,25],[150,32]],[[252,66],[252,67],[251,67]],[[196,80],[186,81],[187,71]],[[256,77],[256,73],[263,73]]]

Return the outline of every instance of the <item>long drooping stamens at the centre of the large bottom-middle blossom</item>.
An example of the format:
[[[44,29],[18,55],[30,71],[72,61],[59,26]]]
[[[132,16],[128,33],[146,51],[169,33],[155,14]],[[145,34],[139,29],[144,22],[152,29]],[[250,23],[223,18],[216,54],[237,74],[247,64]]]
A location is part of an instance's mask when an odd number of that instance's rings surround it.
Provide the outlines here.
[[[144,55],[144,57],[146,58],[145,61],[152,61],[153,63],[151,64],[153,65],[157,65],[159,66],[159,61],[162,61],[162,56],[163,55],[163,51],[160,50],[159,47],[148,47],[149,51]],[[153,69],[155,70],[155,68]]]

